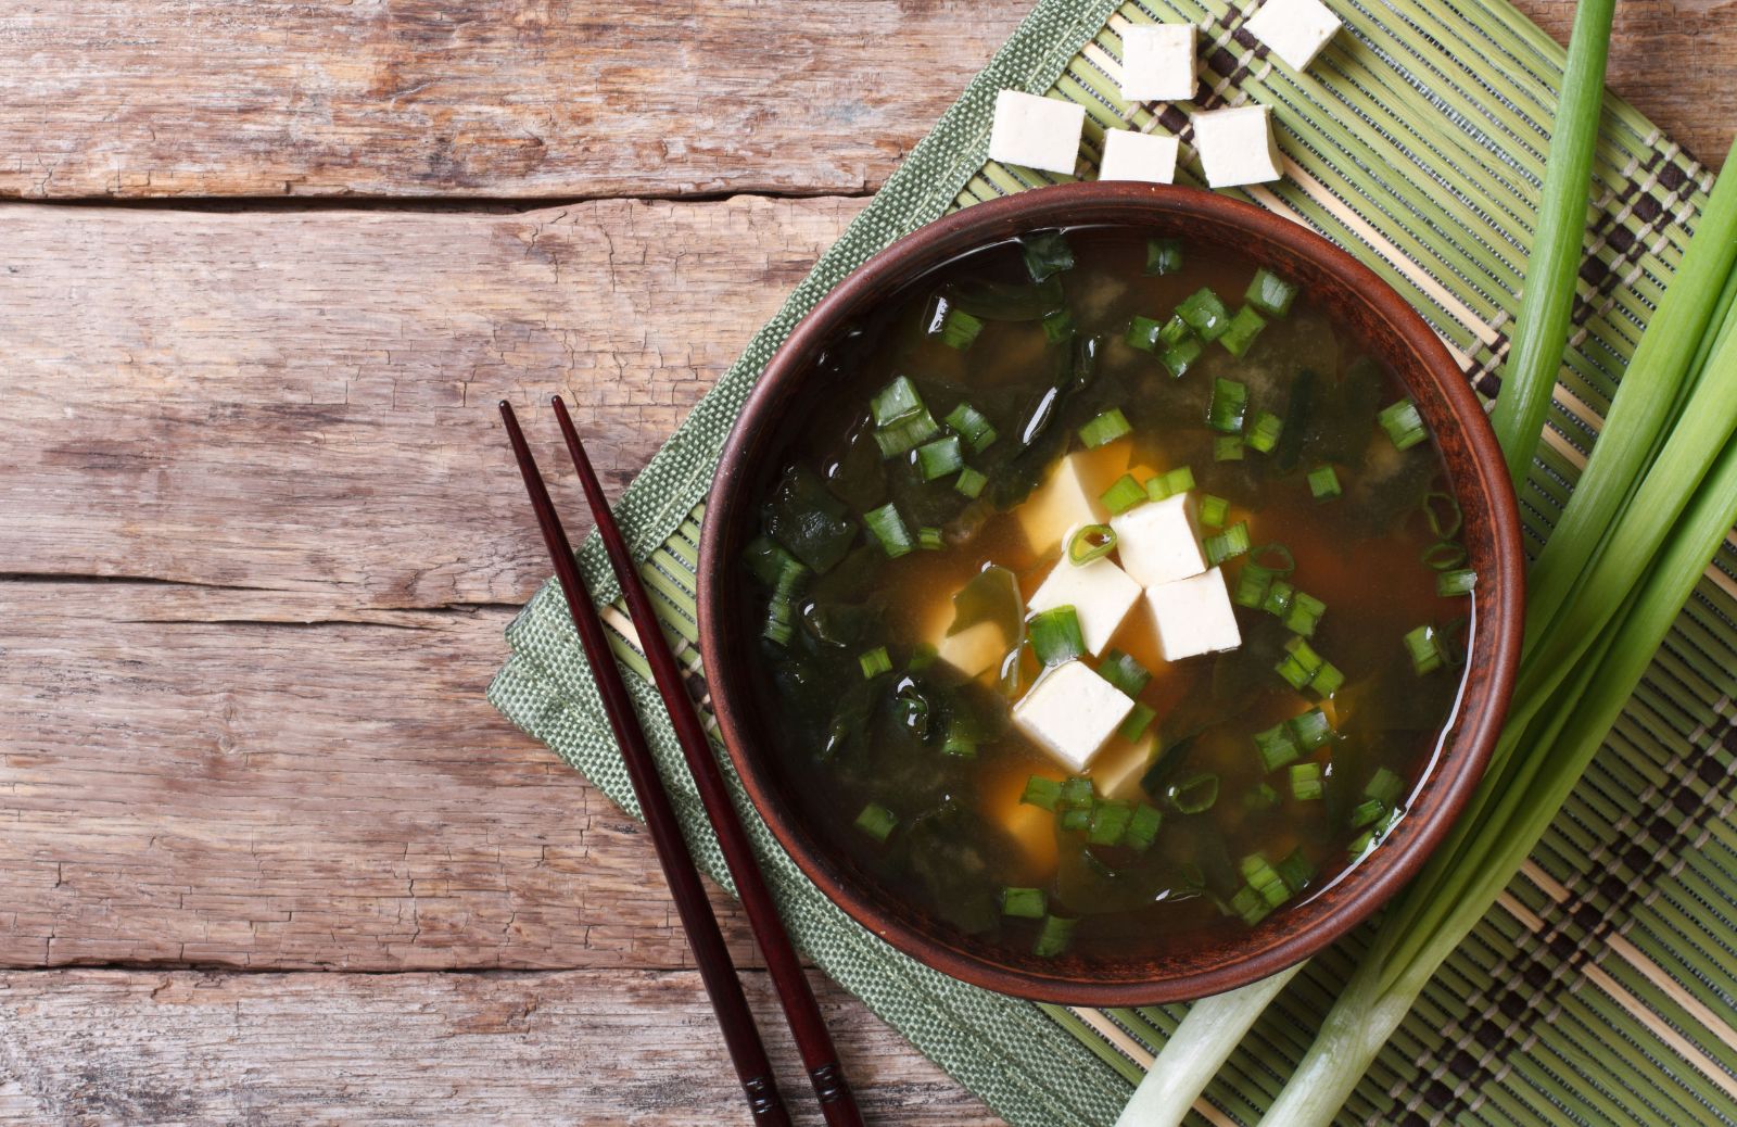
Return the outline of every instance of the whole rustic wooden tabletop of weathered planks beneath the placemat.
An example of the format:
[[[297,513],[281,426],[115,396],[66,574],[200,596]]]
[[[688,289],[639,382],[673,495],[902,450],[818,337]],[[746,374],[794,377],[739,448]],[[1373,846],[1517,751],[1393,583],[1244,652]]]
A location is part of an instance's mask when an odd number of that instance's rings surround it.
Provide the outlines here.
[[[0,3],[0,1120],[740,1122],[648,842],[483,702],[492,405],[625,484],[1025,9]],[[1732,14],[1621,5],[1702,158]],[[874,1122],[990,1120],[818,986]]]

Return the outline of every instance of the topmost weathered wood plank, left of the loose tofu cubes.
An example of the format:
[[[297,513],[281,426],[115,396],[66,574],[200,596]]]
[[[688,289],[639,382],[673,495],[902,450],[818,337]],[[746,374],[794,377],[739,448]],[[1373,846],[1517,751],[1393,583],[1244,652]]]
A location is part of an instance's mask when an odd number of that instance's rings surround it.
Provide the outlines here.
[[[867,193],[1028,9],[14,5],[0,194]]]

